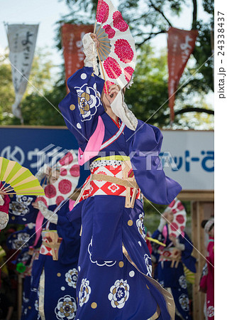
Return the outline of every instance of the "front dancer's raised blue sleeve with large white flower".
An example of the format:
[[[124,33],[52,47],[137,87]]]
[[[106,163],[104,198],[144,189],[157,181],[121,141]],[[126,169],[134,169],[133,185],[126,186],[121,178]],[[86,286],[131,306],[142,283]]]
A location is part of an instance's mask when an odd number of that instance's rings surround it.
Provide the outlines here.
[[[104,113],[101,103],[104,80],[94,75],[93,68],[84,67],[69,78],[67,85],[70,93],[60,102],[59,108],[65,124],[84,151],[99,115]]]

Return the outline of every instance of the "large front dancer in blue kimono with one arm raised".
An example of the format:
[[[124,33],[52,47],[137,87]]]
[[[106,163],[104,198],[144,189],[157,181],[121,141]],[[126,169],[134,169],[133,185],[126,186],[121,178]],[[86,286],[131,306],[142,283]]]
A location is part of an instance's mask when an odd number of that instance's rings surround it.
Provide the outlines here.
[[[89,34],[83,43],[85,67],[68,80],[59,106],[79,164],[89,160],[91,170],[70,213],[82,216],[76,319],[174,319],[171,294],[151,277],[140,193],[169,204],[181,187],[162,170],[160,130],[135,118],[117,85],[104,94]]]

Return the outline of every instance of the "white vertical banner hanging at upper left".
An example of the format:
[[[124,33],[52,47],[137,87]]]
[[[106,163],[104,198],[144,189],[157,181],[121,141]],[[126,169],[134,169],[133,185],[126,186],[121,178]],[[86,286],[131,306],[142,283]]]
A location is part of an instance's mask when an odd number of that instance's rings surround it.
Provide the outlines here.
[[[11,62],[15,90],[15,102],[12,105],[12,112],[23,122],[20,103],[26,91],[31,72],[38,24],[7,24],[6,28],[9,41],[9,60]]]

